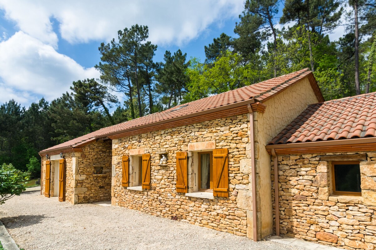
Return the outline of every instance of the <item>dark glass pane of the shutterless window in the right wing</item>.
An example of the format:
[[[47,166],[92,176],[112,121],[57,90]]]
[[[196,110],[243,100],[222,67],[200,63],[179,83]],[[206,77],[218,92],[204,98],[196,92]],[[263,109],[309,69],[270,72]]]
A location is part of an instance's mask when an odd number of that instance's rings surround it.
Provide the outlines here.
[[[335,190],[361,192],[359,164],[334,165]]]

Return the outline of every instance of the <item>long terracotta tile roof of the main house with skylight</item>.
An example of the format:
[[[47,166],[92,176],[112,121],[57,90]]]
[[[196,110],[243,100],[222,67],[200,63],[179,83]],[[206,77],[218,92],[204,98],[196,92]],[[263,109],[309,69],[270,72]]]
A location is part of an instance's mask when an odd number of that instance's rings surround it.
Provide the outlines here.
[[[188,114],[194,114],[201,111],[218,108],[221,106],[243,102],[246,100],[256,99],[258,101],[262,101],[267,98],[270,98],[271,96],[274,96],[274,94],[277,94],[279,91],[284,90],[286,87],[299,81],[303,77],[308,76],[309,74],[312,74],[312,72],[309,71],[308,68],[302,69],[287,75],[269,79],[267,81],[259,82],[253,85],[245,86],[242,88],[227,91],[214,96],[209,96],[193,102],[178,105],[162,112],[153,113],[150,115],[146,115],[144,117],[116,124],[114,126],[105,127],[103,129],[97,130],[87,135],[80,136],[78,138],[56,145],[54,147],[47,148],[45,150],[42,150],[40,153],[63,148],[78,147],[79,145],[82,145],[85,142],[92,141],[96,138],[105,137],[109,134],[114,134],[127,129],[136,129],[138,126],[153,124],[155,122],[168,122],[168,120],[171,118],[177,118]],[[316,83],[314,83],[314,86],[318,90]],[[317,93],[318,98],[322,99],[322,95],[319,90]]]

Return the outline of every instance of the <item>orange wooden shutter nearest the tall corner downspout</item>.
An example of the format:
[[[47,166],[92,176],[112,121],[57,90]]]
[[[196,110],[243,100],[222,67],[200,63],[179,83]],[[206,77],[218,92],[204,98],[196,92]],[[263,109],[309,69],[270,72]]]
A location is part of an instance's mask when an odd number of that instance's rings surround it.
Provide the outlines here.
[[[213,150],[213,195],[229,197],[229,156],[227,148]]]

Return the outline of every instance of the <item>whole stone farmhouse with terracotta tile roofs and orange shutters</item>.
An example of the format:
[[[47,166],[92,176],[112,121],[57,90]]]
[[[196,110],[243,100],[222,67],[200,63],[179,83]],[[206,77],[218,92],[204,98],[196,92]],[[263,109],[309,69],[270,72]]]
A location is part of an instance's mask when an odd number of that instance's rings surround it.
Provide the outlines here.
[[[255,241],[376,246],[376,93],[324,102],[308,69],[39,154],[41,194],[59,201],[111,201]]]

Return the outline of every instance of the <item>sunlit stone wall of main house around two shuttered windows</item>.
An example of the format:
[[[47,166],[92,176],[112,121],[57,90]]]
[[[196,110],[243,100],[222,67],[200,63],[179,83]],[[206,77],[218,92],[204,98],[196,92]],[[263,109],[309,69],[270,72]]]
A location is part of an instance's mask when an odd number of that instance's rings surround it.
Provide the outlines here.
[[[112,204],[246,236],[247,213],[252,208],[248,131],[249,117],[244,114],[113,140]],[[188,151],[188,144],[206,141],[229,149],[229,198],[176,193],[176,151]],[[136,151],[151,154],[150,190],[121,186],[121,157]],[[167,152],[166,165],[158,164],[160,152]]]

